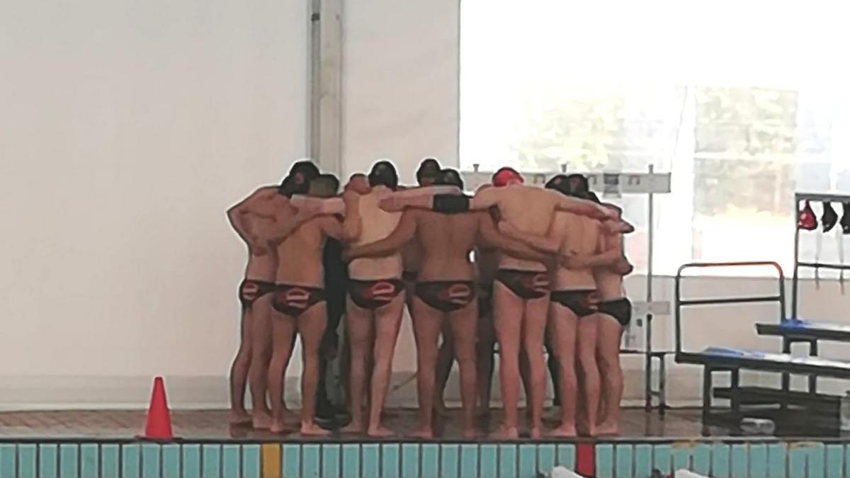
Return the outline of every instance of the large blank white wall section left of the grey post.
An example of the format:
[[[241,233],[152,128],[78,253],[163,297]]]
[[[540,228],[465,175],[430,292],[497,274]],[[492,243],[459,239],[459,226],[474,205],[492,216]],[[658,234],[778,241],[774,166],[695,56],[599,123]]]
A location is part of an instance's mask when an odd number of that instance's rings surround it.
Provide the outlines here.
[[[305,156],[308,24],[306,1],[5,4],[0,405],[144,402],[157,373],[226,396],[224,211]]]

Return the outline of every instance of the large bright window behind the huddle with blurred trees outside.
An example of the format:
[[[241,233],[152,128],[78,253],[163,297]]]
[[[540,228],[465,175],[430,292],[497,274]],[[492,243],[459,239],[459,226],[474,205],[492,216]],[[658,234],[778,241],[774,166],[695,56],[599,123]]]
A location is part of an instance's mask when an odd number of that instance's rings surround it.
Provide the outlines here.
[[[656,196],[656,270],[768,259],[790,274],[794,192],[850,193],[841,7],[694,6],[462,0],[461,166],[654,164],[673,174],[672,194]],[[617,201],[645,269],[646,197]],[[802,234],[802,258],[820,243],[836,261],[839,242],[818,236]]]

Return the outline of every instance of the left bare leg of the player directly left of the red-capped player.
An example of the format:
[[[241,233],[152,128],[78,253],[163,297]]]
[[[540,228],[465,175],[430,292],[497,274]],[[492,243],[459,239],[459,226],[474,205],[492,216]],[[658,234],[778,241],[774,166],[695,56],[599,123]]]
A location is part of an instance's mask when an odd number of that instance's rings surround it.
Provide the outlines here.
[[[412,436],[433,438],[434,371],[437,363],[437,342],[444,313],[413,298],[416,320],[413,331],[416,336],[416,386],[419,392],[419,429]]]

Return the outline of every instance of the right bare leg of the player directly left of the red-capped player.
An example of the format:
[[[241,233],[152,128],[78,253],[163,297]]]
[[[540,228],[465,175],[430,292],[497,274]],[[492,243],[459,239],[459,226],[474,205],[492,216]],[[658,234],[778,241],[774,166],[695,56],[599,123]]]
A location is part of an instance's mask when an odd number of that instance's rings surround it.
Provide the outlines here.
[[[455,357],[461,372],[461,401],[463,404],[463,437],[475,437],[475,329],[478,304],[473,301],[461,310],[449,314],[454,339]]]

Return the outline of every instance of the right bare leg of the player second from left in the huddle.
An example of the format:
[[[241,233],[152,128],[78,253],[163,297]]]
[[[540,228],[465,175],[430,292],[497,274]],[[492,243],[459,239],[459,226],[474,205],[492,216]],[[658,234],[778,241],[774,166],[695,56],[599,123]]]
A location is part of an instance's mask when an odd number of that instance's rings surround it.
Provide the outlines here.
[[[319,345],[325,332],[325,302],[314,304],[298,316],[303,371],[301,373],[301,435],[329,435],[315,424],[316,385],[319,383]]]

